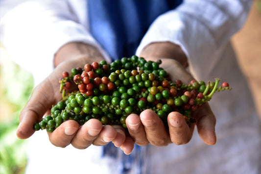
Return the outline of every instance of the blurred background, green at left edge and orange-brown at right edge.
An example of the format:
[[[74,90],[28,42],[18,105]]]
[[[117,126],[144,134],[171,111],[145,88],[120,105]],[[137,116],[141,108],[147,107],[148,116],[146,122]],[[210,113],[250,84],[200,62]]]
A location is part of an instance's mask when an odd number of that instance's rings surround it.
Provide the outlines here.
[[[246,24],[232,43],[261,118],[261,0],[254,0]],[[0,174],[24,174],[27,140],[16,137],[16,128],[32,90],[32,75],[10,60],[0,45]]]

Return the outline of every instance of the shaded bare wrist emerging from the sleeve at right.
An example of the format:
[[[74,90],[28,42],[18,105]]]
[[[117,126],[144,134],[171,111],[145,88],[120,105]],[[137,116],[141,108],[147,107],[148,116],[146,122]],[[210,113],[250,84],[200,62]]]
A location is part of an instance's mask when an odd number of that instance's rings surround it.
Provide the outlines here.
[[[178,61],[183,67],[188,66],[188,58],[179,45],[170,42],[154,42],[147,45],[139,55],[144,58],[169,58]]]

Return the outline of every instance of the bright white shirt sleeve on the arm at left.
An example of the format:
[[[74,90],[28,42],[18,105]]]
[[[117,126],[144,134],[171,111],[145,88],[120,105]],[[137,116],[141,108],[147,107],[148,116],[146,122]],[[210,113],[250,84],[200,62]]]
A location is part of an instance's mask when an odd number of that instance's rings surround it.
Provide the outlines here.
[[[12,0],[5,1],[1,1],[1,9],[6,11],[1,15],[1,44],[12,60],[33,74],[36,84],[52,72],[55,52],[69,42],[93,45],[109,61],[70,1],[33,0],[11,6]],[[80,9],[85,13],[82,9],[86,8]]]

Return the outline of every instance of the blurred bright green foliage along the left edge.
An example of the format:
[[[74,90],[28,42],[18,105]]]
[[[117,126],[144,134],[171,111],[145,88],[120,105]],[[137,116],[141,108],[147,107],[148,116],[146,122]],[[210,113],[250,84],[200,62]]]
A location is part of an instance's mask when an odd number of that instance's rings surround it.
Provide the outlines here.
[[[16,136],[19,114],[33,90],[30,73],[0,48],[0,174],[24,174],[27,140]]]

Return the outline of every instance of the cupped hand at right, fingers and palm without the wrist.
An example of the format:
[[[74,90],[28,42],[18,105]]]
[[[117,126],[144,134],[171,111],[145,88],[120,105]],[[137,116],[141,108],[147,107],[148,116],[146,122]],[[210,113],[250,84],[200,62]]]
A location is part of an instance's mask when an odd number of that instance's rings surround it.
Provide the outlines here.
[[[151,59],[155,61],[155,59]],[[180,79],[189,84],[193,77],[181,66],[179,62],[169,58],[161,58],[161,67],[168,72],[171,80]],[[195,119],[194,124],[187,124],[184,116],[179,112],[168,114],[166,129],[159,116],[152,110],[142,111],[140,116],[131,114],[126,118],[126,125],[130,136],[138,145],[144,146],[152,144],[155,146],[166,146],[170,143],[176,145],[187,144],[190,142],[195,125],[198,134],[203,142],[208,145],[214,145],[215,136],[215,116],[206,103],[201,109],[192,112]]]

